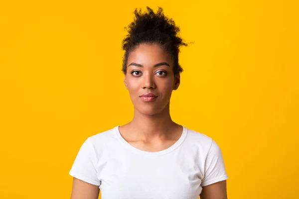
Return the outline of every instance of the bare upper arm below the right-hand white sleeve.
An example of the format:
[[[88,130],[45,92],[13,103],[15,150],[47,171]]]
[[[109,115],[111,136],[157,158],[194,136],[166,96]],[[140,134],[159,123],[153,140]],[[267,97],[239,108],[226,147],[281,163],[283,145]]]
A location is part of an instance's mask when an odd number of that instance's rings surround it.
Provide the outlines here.
[[[202,187],[200,199],[227,199],[226,180]]]

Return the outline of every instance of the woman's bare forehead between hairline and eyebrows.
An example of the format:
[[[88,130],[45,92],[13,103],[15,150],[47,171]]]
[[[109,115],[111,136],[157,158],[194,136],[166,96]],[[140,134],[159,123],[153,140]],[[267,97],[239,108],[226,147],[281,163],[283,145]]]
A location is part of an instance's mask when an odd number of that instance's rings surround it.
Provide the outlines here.
[[[140,44],[128,57],[128,63],[154,65],[158,62],[167,62],[172,65],[171,56],[159,44]]]

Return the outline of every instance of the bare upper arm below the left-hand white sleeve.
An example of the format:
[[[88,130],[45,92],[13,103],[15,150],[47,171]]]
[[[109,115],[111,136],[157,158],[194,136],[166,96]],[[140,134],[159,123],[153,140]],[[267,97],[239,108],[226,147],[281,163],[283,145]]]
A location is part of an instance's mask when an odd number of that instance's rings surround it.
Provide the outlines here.
[[[99,186],[86,183],[77,178],[73,179],[71,199],[98,199],[99,193]]]

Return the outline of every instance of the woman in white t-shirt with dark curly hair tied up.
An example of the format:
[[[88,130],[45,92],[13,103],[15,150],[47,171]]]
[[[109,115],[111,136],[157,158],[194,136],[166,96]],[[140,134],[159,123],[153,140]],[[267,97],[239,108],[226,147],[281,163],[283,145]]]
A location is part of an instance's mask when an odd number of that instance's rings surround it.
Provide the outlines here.
[[[224,161],[208,136],[172,121],[180,84],[179,47],[187,44],[163,14],[135,10],[123,40],[131,122],[87,138],[70,175],[71,199],[227,199]]]

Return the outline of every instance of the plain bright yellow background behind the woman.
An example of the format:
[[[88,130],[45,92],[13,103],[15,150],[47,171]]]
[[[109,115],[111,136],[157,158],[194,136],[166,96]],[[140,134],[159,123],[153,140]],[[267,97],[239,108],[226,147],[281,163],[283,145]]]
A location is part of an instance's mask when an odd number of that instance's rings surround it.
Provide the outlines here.
[[[121,42],[146,5],[194,41],[171,116],[220,145],[228,198],[299,199],[296,0],[2,0],[0,198],[70,198],[84,140],[132,119]]]

